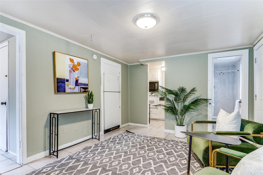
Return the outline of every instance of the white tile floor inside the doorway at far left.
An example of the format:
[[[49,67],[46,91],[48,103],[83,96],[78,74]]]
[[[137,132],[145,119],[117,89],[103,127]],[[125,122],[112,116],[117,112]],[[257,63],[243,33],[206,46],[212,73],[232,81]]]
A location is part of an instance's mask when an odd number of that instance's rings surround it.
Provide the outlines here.
[[[0,150],[0,174],[18,167],[21,167],[21,165],[16,163],[16,156]]]

